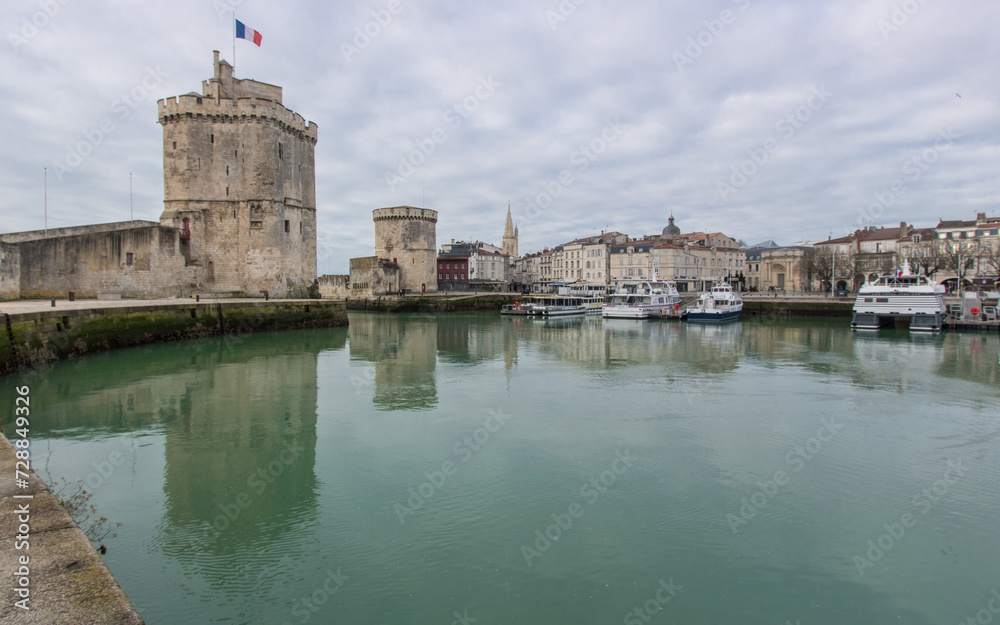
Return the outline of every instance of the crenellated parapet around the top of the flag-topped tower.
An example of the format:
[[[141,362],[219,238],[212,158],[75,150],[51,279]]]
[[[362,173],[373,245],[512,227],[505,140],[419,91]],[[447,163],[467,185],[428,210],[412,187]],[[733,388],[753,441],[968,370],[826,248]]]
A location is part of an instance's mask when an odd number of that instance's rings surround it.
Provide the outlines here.
[[[166,126],[191,120],[213,123],[269,123],[283,132],[316,143],[314,122],[280,103],[262,98],[219,99],[189,93],[157,101],[159,123]]]

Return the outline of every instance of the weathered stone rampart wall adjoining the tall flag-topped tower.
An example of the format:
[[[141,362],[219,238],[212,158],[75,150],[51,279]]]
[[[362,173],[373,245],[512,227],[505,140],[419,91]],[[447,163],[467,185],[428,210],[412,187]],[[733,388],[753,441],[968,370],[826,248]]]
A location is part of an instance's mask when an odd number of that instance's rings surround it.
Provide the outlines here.
[[[169,297],[200,283],[199,268],[185,265],[176,230],[109,225],[115,227],[19,243],[21,297],[65,297],[69,291]]]

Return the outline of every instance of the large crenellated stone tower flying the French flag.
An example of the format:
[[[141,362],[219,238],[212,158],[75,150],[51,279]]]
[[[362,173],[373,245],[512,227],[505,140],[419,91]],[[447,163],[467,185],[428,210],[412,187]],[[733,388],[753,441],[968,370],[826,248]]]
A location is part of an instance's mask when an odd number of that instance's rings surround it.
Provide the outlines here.
[[[180,231],[198,284],[301,297],[316,279],[316,124],[281,87],[233,76],[215,51],[202,93],[160,100],[160,223]]]

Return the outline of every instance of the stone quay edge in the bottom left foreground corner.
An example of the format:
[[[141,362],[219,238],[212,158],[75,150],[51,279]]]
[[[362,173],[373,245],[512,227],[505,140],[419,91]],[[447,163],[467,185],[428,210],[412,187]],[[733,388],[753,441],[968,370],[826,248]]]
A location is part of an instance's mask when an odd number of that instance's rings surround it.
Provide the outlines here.
[[[13,477],[16,462],[13,446],[0,433],[4,476]],[[0,481],[0,541],[5,545],[0,549],[0,571],[8,583],[28,581],[22,604],[28,609],[15,604],[22,600],[20,595],[5,590],[8,599],[0,605],[0,622],[143,625],[90,539],[41,478],[33,470],[26,473],[27,487],[16,487],[13,479]],[[17,544],[25,548],[18,550]]]

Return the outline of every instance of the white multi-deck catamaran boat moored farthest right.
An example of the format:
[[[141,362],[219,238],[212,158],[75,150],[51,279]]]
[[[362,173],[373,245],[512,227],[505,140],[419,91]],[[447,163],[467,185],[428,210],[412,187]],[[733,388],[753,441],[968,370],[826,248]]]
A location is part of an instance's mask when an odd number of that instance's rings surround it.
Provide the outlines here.
[[[909,263],[904,263],[896,273],[861,287],[854,302],[851,328],[878,330],[896,319],[909,319],[911,330],[937,332],[948,314],[944,292],[944,286],[927,276],[911,274]]]

